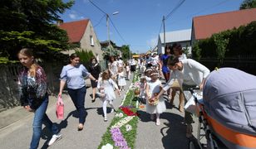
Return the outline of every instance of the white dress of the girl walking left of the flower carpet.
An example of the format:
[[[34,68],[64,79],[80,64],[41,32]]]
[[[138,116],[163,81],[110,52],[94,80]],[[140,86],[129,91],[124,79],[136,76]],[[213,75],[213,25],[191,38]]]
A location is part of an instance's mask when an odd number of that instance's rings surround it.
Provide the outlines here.
[[[104,100],[113,100],[116,99],[116,94],[114,92],[114,88],[118,89],[117,84],[115,83],[115,81],[113,81],[113,79],[108,79],[108,80],[103,80],[102,78],[100,78],[98,80],[98,84],[97,84],[97,88],[100,89],[101,87],[104,88],[106,97],[104,98]]]

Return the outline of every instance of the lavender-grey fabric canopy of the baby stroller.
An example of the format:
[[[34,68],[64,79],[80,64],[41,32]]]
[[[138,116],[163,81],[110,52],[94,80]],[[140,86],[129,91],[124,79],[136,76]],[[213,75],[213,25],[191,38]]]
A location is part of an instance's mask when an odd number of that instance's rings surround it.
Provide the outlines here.
[[[214,70],[203,93],[211,118],[236,132],[256,135],[256,76],[234,68]]]

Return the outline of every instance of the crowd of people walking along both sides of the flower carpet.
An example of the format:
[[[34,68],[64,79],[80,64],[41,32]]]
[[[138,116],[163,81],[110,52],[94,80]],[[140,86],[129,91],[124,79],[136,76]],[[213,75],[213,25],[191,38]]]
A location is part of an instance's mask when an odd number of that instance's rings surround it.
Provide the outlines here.
[[[35,61],[31,49],[24,48],[18,53],[18,59],[24,66],[19,74],[19,86],[21,91],[21,103],[29,112],[34,113],[33,135],[30,148],[37,148],[42,133],[42,123],[45,123],[52,131],[52,139],[48,145],[52,145],[62,134],[57,126],[47,117],[47,77],[40,65]],[[204,79],[209,70],[192,59],[187,59],[180,44],[166,46],[163,55],[145,55],[138,60],[131,59],[124,62],[121,57],[110,57],[108,69],[101,72],[101,66],[95,57],[91,58],[88,70],[80,63],[76,54],[70,56],[70,64],[63,66],[60,74],[60,90],[58,96],[66,84],[67,92],[79,113],[77,130],[84,127],[86,118],[85,97],[86,84],[84,79],[91,79],[91,102],[96,98],[102,101],[103,120],[107,121],[106,106],[111,106],[111,113],[116,111],[113,100],[116,93],[121,94],[125,90],[126,80],[130,79],[130,71],[140,71],[140,102],[146,104],[146,113],[151,120],[160,125],[160,114],[165,112],[165,99],[163,94],[167,92],[168,101],[173,104],[176,92],[180,92],[180,112],[184,112],[184,104],[189,99],[187,89],[191,86],[203,87]],[[163,79],[163,80],[161,80]],[[162,82],[165,80],[165,84]],[[192,137],[193,118],[191,113],[185,112],[187,124],[186,137]]]

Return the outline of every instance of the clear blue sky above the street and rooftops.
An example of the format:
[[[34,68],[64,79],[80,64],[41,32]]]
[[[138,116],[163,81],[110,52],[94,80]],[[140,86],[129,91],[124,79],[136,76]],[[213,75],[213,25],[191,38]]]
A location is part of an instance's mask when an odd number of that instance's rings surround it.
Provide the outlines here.
[[[63,2],[66,2],[64,0]],[[116,46],[129,45],[130,50],[144,53],[153,49],[165,16],[165,31],[190,29],[193,17],[239,10],[243,0],[91,0],[111,18],[110,39]],[[108,40],[106,14],[89,0],[76,0],[61,14],[64,22],[89,18],[99,41]],[[174,11],[175,9],[175,11]],[[118,12],[113,15],[114,12]]]

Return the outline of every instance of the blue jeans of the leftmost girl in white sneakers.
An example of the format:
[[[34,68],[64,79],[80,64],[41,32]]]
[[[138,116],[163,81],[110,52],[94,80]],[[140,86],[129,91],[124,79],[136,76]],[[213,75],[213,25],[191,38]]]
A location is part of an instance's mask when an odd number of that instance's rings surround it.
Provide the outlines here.
[[[44,97],[44,101],[35,111],[34,121],[33,121],[33,135],[32,141],[30,143],[31,149],[36,149],[38,147],[41,133],[42,133],[42,123],[52,132],[52,134],[57,134],[59,129],[55,123],[48,118],[46,111],[48,106],[48,97]]]

